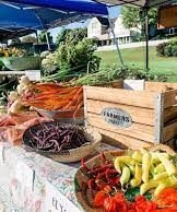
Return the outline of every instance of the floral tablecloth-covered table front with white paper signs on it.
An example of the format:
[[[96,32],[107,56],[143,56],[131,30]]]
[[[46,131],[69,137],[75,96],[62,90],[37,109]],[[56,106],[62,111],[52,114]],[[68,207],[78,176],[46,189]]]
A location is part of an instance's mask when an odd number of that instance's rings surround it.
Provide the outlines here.
[[[98,152],[114,146],[102,144]],[[0,207],[5,212],[80,212],[73,179],[80,163],[54,162],[23,146],[0,149]],[[0,208],[1,209],[1,208]]]

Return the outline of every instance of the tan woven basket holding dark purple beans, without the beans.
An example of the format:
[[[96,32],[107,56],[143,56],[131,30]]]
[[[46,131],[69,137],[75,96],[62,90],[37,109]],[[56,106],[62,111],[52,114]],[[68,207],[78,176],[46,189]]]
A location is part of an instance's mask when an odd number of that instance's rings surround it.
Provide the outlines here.
[[[43,156],[49,157],[56,162],[72,163],[72,162],[81,161],[81,158],[94,153],[95,149],[99,145],[102,141],[102,136],[97,131],[95,131],[93,128],[86,128],[85,133],[88,140],[91,141],[91,144],[85,144],[85,145],[82,145],[81,148],[72,149],[69,151],[61,151],[60,153],[38,151],[38,150],[35,150],[28,146],[26,142],[30,138],[27,130],[24,132],[23,141],[24,141],[26,151],[35,151],[42,154]]]

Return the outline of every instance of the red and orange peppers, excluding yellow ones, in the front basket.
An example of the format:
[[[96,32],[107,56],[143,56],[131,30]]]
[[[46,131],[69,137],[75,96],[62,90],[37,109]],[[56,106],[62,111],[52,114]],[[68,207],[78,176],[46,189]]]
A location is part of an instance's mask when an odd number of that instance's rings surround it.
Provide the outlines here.
[[[93,196],[93,207],[105,212],[177,212],[177,190],[168,188],[160,193],[156,202],[151,193],[139,195],[139,188],[121,191],[120,176],[104,154],[102,164],[88,168],[82,160],[82,172],[88,177],[86,189]],[[170,207],[169,207],[170,205]]]

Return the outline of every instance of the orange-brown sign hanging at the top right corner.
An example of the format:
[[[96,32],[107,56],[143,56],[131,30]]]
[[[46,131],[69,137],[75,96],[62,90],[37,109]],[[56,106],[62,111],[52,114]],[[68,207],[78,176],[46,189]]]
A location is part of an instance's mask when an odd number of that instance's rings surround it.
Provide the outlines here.
[[[177,26],[177,5],[168,5],[158,10],[157,28],[170,28]]]

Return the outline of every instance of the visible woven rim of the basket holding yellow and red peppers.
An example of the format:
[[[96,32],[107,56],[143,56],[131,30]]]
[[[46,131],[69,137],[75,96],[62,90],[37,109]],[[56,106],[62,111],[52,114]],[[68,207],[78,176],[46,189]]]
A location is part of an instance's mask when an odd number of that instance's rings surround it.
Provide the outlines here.
[[[153,145],[148,149],[151,152],[155,151],[163,151],[167,152],[170,155],[175,155],[176,153],[167,145],[158,144],[158,145]],[[116,156],[121,156],[125,155],[127,151],[107,151],[105,152],[106,158],[111,161]],[[88,168],[93,167],[94,165],[99,165],[102,163],[101,155],[95,156],[94,158],[90,160],[86,163],[86,166]],[[80,203],[81,208],[85,212],[105,212],[103,209],[95,209],[93,208],[93,199],[90,193],[90,191],[83,189],[82,182],[87,181],[88,178],[85,176],[81,168],[78,169],[75,176],[74,176],[74,189],[75,189],[75,197],[78,202]]]

